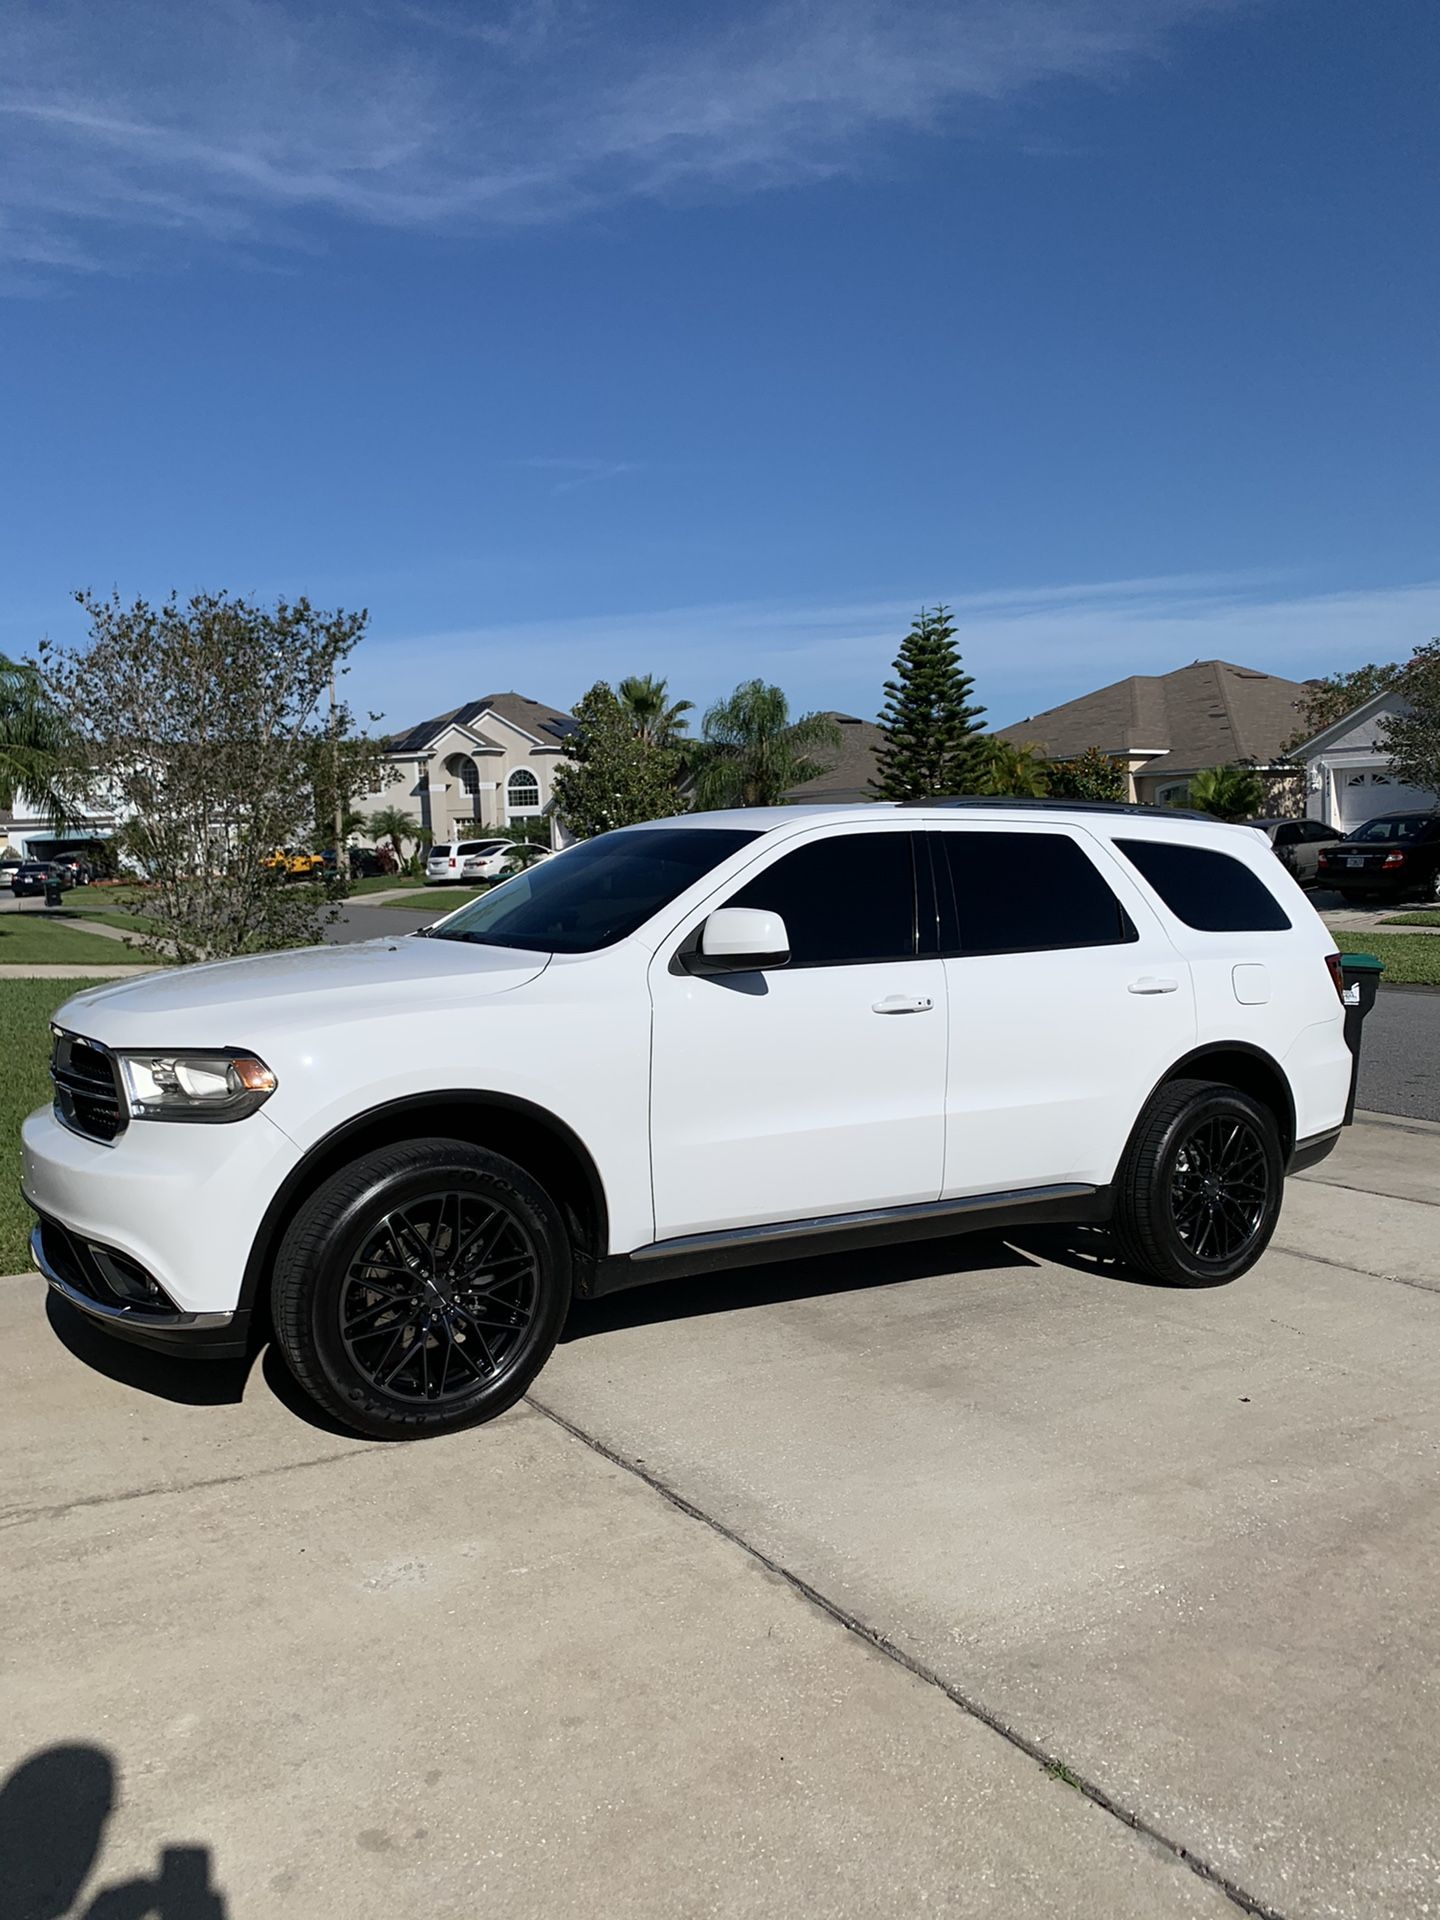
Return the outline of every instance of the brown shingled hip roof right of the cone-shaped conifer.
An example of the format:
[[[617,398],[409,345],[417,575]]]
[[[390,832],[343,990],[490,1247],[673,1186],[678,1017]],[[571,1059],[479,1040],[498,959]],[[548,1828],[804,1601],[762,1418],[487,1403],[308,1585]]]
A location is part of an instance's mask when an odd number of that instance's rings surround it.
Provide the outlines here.
[[[1164,753],[1165,772],[1236,760],[1267,766],[1296,732],[1302,693],[1298,680],[1196,660],[1173,674],[1131,674],[996,733],[1060,760],[1100,747],[1116,755]]]

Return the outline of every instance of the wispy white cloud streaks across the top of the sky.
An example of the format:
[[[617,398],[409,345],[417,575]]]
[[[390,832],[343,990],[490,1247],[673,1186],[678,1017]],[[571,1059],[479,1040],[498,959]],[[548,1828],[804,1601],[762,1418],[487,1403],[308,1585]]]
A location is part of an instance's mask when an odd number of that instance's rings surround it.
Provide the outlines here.
[[[470,230],[856,171],[1102,81],[1233,0],[13,0],[0,257],[165,236],[286,244],[301,215]],[[48,265],[61,273],[65,261]]]

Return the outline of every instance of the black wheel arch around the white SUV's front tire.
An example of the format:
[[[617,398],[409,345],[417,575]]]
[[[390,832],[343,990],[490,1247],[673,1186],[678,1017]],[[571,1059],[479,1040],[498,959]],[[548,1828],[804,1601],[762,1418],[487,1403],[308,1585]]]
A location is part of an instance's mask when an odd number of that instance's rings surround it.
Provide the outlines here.
[[[576,1290],[609,1248],[605,1183],[589,1148],[557,1114],[515,1094],[445,1089],[388,1100],[342,1121],[290,1169],[261,1217],[240,1283],[240,1306],[267,1321],[265,1281],[298,1208],[336,1167],[357,1154],[424,1137],[470,1140],[505,1154],[559,1202],[576,1254]],[[257,1309],[257,1311],[255,1311]]]

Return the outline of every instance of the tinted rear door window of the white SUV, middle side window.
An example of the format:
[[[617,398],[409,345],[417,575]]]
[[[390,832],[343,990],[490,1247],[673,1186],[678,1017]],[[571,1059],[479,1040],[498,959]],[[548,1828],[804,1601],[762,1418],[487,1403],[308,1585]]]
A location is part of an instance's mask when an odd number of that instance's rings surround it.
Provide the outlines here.
[[[935,833],[948,872],[952,952],[1014,954],[1137,939],[1125,908],[1068,833]]]

